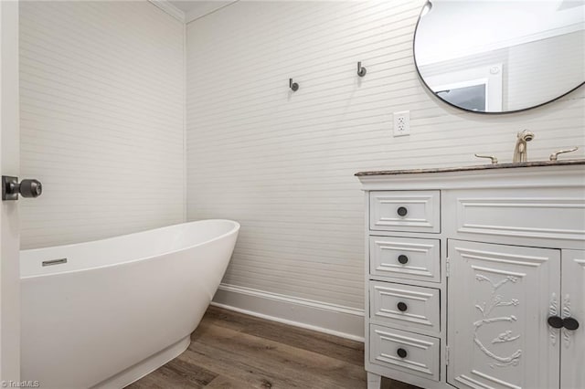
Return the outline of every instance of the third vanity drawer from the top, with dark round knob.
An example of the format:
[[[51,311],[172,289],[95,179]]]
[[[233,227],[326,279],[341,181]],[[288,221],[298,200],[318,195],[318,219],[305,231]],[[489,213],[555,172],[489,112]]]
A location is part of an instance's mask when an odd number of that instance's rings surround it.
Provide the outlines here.
[[[439,289],[370,281],[369,299],[372,321],[431,335],[441,331]]]

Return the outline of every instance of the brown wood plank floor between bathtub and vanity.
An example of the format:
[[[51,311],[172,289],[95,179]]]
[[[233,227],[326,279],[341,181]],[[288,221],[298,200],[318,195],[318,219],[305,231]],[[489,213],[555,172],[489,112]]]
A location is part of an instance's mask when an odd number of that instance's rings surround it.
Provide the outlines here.
[[[127,388],[366,388],[364,345],[209,307],[186,352]]]

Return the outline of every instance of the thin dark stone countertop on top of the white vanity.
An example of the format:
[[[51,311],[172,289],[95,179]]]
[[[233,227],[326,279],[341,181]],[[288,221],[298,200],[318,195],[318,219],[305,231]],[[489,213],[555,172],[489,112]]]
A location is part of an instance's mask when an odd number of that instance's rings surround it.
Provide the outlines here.
[[[406,170],[379,170],[373,172],[359,172],[355,175],[357,177],[364,177],[367,175],[389,175],[389,174],[417,174],[417,173],[445,173],[445,172],[469,172],[473,170],[490,170],[490,169],[511,169],[520,167],[535,167],[535,166],[566,166],[573,164],[585,164],[585,159],[578,160],[561,160],[561,161],[534,161],[526,163],[495,163],[495,164],[480,164],[473,166],[460,167],[440,167],[427,169],[406,169]]]

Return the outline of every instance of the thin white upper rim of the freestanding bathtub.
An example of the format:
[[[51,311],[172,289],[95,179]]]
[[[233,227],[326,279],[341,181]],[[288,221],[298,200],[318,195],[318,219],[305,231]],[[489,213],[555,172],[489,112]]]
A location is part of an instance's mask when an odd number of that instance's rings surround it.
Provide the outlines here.
[[[101,269],[101,268],[113,268],[113,267],[116,267],[116,266],[128,265],[128,264],[131,264],[131,263],[134,263],[134,262],[149,261],[149,260],[153,260],[155,258],[160,258],[160,257],[163,257],[163,256],[167,256],[167,255],[170,255],[170,254],[181,253],[181,252],[184,252],[186,250],[190,250],[190,249],[193,249],[195,247],[200,247],[200,246],[203,246],[203,245],[207,245],[209,243],[218,241],[218,240],[220,240],[222,238],[229,237],[230,235],[233,235],[234,233],[238,233],[239,232],[239,228],[241,227],[240,224],[239,224],[239,222],[237,222],[235,220],[229,220],[229,219],[201,219],[201,220],[194,220],[194,221],[191,221],[191,222],[176,223],[176,224],[170,225],[170,226],[162,226],[162,227],[157,227],[157,228],[151,228],[151,229],[147,229],[147,230],[144,230],[144,231],[133,232],[133,233],[130,233],[130,234],[124,234],[124,235],[119,235],[119,236],[115,236],[115,237],[105,237],[103,239],[88,240],[86,242],[80,242],[80,243],[70,243],[68,245],[50,246],[50,247],[39,247],[39,248],[29,248],[29,249],[26,249],[26,250],[20,250],[19,251],[19,255],[18,255],[18,261],[21,260],[20,253],[22,251],[36,252],[36,251],[41,251],[41,250],[45,250],[47,248],[53,248],[53,247],[67,248],[67,247],[72,247],[72,246],[84,245],[84,244],[88,244],[88,243],[103,242],[103,241],[112,240],[112,239],[116,239],[116,238],[120,238],[120,237],[132,237],[132,236],[144,234],[147,231],[165,230],[165,229],[170,229],[170,228],[173,228],[173,227],[176,227],[176,226],[191,225],[191,224],[204,223],[204,222],[229,222],[230,224],[232,224],[233,227],[227,233],[222,234],[222,235],[219,235],[218,237],[213,237],[213,238],[208,239],[208,240],[206,240],[204,242],[199,242],[196,245],[191,245],[191,246],[182,247],[182,248],[179,248],[179,249],[176,249],[176,250],[166,251],[165,253],[161,253],[161,254],[158,254],[158,255],[149,256],[149,257],[142,257],[142,258],[135,258],[135,259],[130,259],[130,260],[124,260],[124,261],[110,263],[110,264],[106,264],[106,265],[91,266],[89,268],[77,268],[77,269],[72,269],[72,270],[62,270],[62,271],[55,271],[55,272],[44,273],[44,274],[34,274],[34,275],[28,275],[28,276],[23,276],[21,274],[20,275],[20,281],[22,282],[25,279],[37,279],[37,278],[41,278],[41,277],[57,276],[57,275],[61,275],[61,274],[79,273],[79,272],[82,272],[82,271],[97,270],[97,269]]]

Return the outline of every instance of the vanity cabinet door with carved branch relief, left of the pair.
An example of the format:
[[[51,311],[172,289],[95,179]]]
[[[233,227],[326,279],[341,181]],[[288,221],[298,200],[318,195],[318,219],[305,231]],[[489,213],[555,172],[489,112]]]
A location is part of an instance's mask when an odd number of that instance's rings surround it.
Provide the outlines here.
[[[447,380],[458,388],[558,388],[560,251],[449,240]]]

